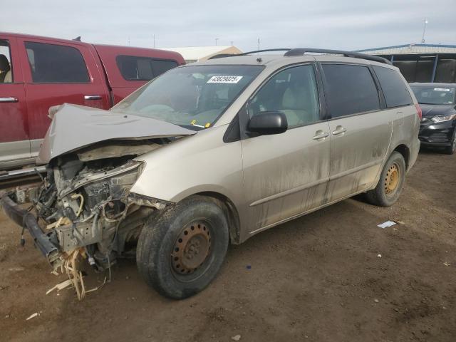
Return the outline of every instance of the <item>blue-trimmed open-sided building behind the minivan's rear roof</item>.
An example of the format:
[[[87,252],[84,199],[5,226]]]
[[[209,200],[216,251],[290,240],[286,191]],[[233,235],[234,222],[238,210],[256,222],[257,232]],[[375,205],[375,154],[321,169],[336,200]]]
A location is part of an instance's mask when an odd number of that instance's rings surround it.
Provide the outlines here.
[[[356,52],[389,59],[408,82],[456,83],[456,45],[408,44]]]

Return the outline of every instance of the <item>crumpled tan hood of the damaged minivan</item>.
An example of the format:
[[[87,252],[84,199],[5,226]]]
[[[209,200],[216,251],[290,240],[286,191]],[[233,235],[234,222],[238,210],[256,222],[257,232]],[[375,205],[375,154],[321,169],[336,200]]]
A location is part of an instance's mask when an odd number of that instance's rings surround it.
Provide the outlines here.
[[[46,164],[58,155],[104,140],[167,138],[195,133],[161,120],[65,103],[53,117],[36,162]]]

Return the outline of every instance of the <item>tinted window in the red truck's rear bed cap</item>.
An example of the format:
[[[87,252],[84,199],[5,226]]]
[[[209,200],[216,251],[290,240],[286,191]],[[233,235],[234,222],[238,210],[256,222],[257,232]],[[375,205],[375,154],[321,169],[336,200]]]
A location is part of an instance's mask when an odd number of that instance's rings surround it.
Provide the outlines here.
[[[117,56],[115,61],[127,81],[150,81],[177,66],[176,61],[137,56]]]

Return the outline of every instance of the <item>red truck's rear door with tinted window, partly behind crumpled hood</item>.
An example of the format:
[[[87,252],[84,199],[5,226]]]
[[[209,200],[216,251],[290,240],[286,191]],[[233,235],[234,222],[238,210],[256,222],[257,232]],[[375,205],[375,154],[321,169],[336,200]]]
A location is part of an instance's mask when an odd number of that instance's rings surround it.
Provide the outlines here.
[[[22,51],[31,153],[36,155],[51,120],[49,107],[62,103],[110,108],[108,86],[93,46],[18,38]]]

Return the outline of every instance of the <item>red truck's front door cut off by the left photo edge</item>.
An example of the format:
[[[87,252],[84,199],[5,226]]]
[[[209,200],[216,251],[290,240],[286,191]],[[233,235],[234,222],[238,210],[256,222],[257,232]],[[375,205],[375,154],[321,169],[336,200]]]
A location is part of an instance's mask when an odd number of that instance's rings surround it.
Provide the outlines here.
[[[26,96],[16,38],[0,35],[0,168],[31,158]]]

